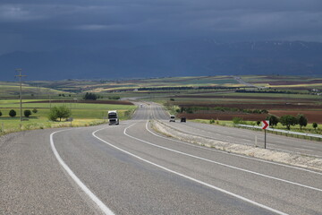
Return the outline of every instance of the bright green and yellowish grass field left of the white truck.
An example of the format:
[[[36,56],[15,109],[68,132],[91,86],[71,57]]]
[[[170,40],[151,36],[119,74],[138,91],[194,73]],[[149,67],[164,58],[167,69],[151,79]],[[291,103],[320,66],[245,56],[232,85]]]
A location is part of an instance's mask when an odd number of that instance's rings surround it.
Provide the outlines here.
[[[32,110],[34,107],[38,109],[38,112],[32,113],[30,117],[22,117],[20,121],[20,109],[19,104],[16,104],[17,100],[11,100],[12,103],[4,100],[0,103],[0,110],[2,116],[0,116],[0,134],[20,132],[33,129],[55,128],[55,127],[69,127],[69,126],[89,126],[99,125],[107,122],[107,111],[117,110],[120,120],[126,120],[131,117],[131,114],[136,109],[136,106],[130,105],[106,105],[106,104],[72,104],[68,103],[55,103],[54,106],[66,105],[72,107],[72,123],[62,119],[62,122],[49,121],[47,115],[49,113],[49,105],[47,103],[27,103],[23,104],[22,114],[25,109]],[[8,106],[8,107],[4,107]],[[10,109],[14,109],[17,116],[9,116]]]

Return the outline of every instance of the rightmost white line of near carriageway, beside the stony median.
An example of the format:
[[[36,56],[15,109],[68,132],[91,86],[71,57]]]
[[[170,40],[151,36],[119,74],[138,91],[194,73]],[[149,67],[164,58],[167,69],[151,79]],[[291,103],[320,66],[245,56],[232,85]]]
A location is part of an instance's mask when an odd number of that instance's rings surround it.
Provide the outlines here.
[[[169,141],[173,141],[173,142],[179,142],[181,144],[189,145],[189,146],[192,146],[192,147],[195,147],[195,148],[199,148],[199,149],[202,149],[202,150],[214,150],[214,149],[205,149],[205,147],[201,147],[201,146],[198,146],[198,145],[194,145],[194,144],[191,144],[191,143],[188,143],[188,142],[177,141],[177,140],[174,140],[174,139],[171,139],[171,138],[167,138],[167,137],[158,135],[157,133],[153,133],[151,130],[148,129],[148,121],[147,121],[147,124],[146,124],[146,130],[149,133],[152,133],[153,135],[155,135],[157,137],[160,137],[160,138],[163,138],[165,140],[169,140]],[[240,158],[244,158],[244,159],[252,159],[252,160],[257,160],[257,161],[263,162],[263,163],[274,164],[276,166],[281,166],[281,167],[285,167],[285,168],[299,169],[299,170],[302,170],[302,171],[306,171],[306,172],[309,172],[309,173],[314,173],[314,174],[317,174],[317,175],[321,175],[322,176],[322,173],[316,172],[316,171],[313,171],[313,170],[309,170],[309,169],[306,169],[306,168],[292,167],[292,166],[289,166],[289,165],[286,165],[286,164],[275,163],[275,162],[268,161],[268,160],[264,160],[264,159],[250,158],[248,156],[239,155],[239,154],[233,154],[233,153],[229,153],[229,152],[222,151],[222,150],[214,150],[214,151],[219,152],[219,153],[223,153],[223,154],[227,154],[227,155],[230,155],[230,156],[240,157]],[[289,151],[289,152],[291,152],[291,151]]]

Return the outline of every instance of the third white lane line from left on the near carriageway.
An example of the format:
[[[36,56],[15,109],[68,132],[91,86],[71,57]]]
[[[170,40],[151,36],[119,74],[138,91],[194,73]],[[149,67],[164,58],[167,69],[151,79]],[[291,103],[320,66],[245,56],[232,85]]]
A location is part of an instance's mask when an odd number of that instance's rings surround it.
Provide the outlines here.
[[[133,124],[135,125],[135,124]],[[128,128],[130,128],[131,126],[133,125],[130,125],[128,127],[126,127],[124,129],[124,134],[127,135],[128,137],[131,137],[132,139],[134,140],[137,140],[137,141],[140,141],[140,142],[144,142],[148,145],[152,145],[152,146],[155,146],[157,148],[160,148],[160,149],[163,149],[163,150],[170,150],[170,151],[173,151],[175,153],[178,153],[178,154],[182,154],[184,156],[188,156],[188,157],[191,157],[191,158],[194,158],[194,159],[200,159],[200,160],[203,160],[203,161],[207,161],[209,163],[214,163],[216,165],[220,165],[220,166],[223,166],[225,168],[233,168],[233,169],[237,169],[237,170],[240,170],[242,172],[247,172],[247,173],[250,173],[250,174],[254,174],[254,175],[257,175],[257,176],[263,176],[263,177],[267,177],[267,178],[270,178],[270,179],[274,179],[276,181],[281,181],[281,182],[284,182],[284,183],[288,183],[288,184],[291,184],[291,185],[298,185],[298,186],[301,186],[301,187],[305,187],[305,188],[308,188],[308,189],[311,189],[311,190],[316,190],[316,191],[319,191],[319,192],[322,192],[322,189],[319,189],[319,188],[316,188],[316,187],[312,187],[312,186],[309,186],[309,185],[301,185],[299,183],[296,183],[296,182],[292,182],[292,181],[288,181],[288,180],[284,180],[282,178],[278,178],[278,177],[275,177],[275,176],[267,176],[265,174],[261,174],[261,173],[258,173],[258,172],[254,172],[254,171],[250,171],[248,169],[245,169],[245,168],[237,168],[237,167],[233,167],[231,165],[227,165],[227,164],[224,164],[224,163],[220,163],[220,162],[216,162],[215,160],[211,160],[211,159],[204,159],[204,158],[201,158],[201,157],[198,157],[198,156],[195,156],[195,155],[191,155],[191,154],[188,154],[188,153],[184,153],[180,150],[172,150],[172,149],[169,149],[169,148],[166,148],[164,146],[160,146],[160,145],[157,145],[157,144],[154,144],[154,143],[151,143],[151,142],[146,142],[146,141],[143,141],[143,140],[140,140],[139,138],[136,138],[136,137],[133,137],[129,134],[126,133],[126,130]]]

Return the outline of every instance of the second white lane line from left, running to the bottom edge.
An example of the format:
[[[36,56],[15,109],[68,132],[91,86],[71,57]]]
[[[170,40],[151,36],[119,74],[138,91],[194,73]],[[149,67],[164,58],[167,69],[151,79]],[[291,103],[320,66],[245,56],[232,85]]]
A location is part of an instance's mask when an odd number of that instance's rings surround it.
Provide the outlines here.
[[[135,125],[135,124],[133,124],[133,125]],[[132,125],[131,125],[131,126],[132,126]],[[100,140],[101,142],[105,142],[107,145],[109,145],[109,146],[113,147],[113,148],[114,148],[114,149],[116,149],[116,150],[121,150],[121,151],[123,151],[124,153],[126,153],[126,154],[128,154],[128,155],[131,155],[132,157],[134,157],[134,158],[136,158],[136,159],[140,159],[140,160],[142,160],[142,161],[144,161],[144,162],[147,162],[147,163],[148,163],[148,164],[150,164],[150,165],[156,166],[157,168],[162,168],[162,169],[164,169],[165,171],[168,171],[168,172],[170,172],[170,173],[173,173],[173,174],[175,174],[175,175],[177,175],[177,176],[182,176],[182,177],[187,178],[187,179],[189,179],[189,180],[191,180],[191,181],[193,181],[193,182],[199,183],[200,185],[205,185],[205,186],[208,186],[208,187],[210,187],[210,188],[212,188],[212,189],[215,189],[215,190],[217,190],[217,191],[220,191],[220,192],[222,192],[222,193],[226,193],[226,194],[232,195],[233,197],[235,197],[235,198],[237,198],[237,199],[240,199],[240,200],[242,200],[242,201],[244,201],[244,202],[249,202],[249,203],[254,204],[254,205],[256,205],[256,206],[258,206],[258,207],[260,207],[260,208],[266,209],[267,211],[272,211],[272,212],[275,212],[275,213],[277,213],[277,214],[281,214],[281,215],[287,215],[287,213],[284,213],[284,212],[282,212],[282,211],[277,211],[277,210],[275,210],[275,209],[273,209],[273,208],[270,208],[270,207],[268,207],[268,206],[266,206],[266,205],[264,205],[264,204],[261,204],[261,203],[258,203],[258,202],[255,202],[255,201],[252,201],[252,200],[250,200],[250,199],[247,199],[247,198],[245,198],[245,197],[242,197],[242,196],[241,196],[241,195],[239,195],[239,194],[236,194],[236,193],[232,193],[232,192],[226,191],[226,190],[224,190],[224,189],[222,189],[222,188],[219,188],[219,187],[217,187],[217,186],[215,186],[215,185],[209,185],[208,183],[202,182],[202,181],[200,181],[200,180],[198,180],[198,179],[196,179],[196,178],[193,178],[193,177],[191,177],[191,176],[183,175],[182,173],[176,172],[176,171],[174,171],[174,170],[172,170],[172,169],[170,169],[170,168],[165,168],[165,167],[163,167],[163,166],[161,166],[161,165],[158,165],[158,164],[156,164],[156,163],[153,163],[152,161],[149,161],[148,159],[143,159],[143,158],[141,158],[140,156],[137,156],[137,155],[135,155],[135,154],[132,154],[131,152],[129,152],[129,151],[127,151],[127,150],[123,150],[123,149],[121,149],[121,148],[119,148],[119,147],[117,147],[117,146],[113,145],[112,143],[106,142],[105,140],[103,140],[103,139],[101,139],[101,138],[97,137],[97,135],[96,135],[95,133],[97,133],[98,131],[101,131],[101,130],[103,130],[103,129],[105,129],[105,128],[98,129],[97,131],[93,132],[93,133],[92,133],[92,135],[93,135],[94,137],[96,137],[98,140]]]

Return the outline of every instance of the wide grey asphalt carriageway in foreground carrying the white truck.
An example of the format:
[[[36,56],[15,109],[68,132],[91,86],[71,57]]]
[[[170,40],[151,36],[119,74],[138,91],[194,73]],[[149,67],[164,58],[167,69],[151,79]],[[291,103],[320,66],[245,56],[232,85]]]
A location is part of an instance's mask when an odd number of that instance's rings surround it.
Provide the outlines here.
[[[322,214],[321,172],[171,140],[148,118],[168,116],[150,104],[120,125],[1,137],[0,214]]]

